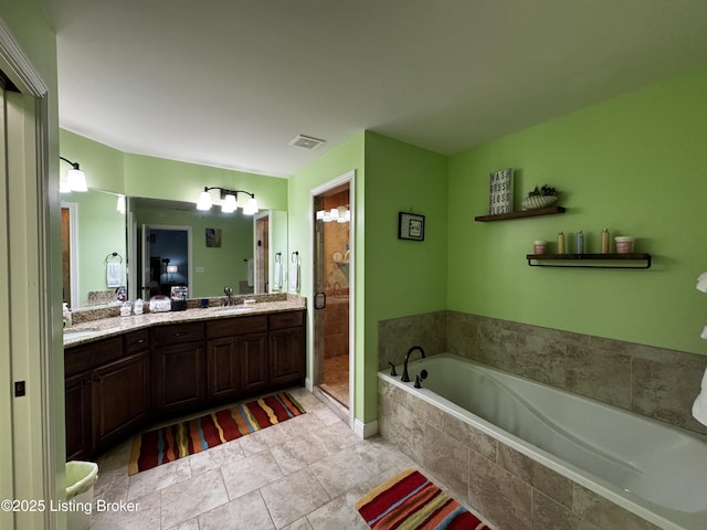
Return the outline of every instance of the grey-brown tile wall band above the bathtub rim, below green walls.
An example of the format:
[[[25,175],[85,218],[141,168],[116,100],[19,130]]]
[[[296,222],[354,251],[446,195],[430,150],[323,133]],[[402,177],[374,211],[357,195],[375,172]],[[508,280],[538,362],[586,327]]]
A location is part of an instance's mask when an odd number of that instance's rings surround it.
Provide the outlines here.
[[[421,344],[707,434],[690,413],[705,356],[458,311],[384,320],[378,335],[379,370]]]

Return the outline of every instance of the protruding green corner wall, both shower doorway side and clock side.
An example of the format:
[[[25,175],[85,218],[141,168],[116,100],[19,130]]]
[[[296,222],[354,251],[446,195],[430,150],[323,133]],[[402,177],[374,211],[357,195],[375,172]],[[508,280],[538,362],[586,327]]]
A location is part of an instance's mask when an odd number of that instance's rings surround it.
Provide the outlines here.
[[[289,180],[289,251],[312,267],[309,191],[347,171],[355,182],[355,416],[378,417],[378,321],[446,303],[446,158],[366,131]],[[398,213],[425,215],[425,241],[398,240]],[[309,296],[303,274],[300,293]],[[312,318],[312,315],[309,315]],[[404,356],[404,352],[401,352]]]

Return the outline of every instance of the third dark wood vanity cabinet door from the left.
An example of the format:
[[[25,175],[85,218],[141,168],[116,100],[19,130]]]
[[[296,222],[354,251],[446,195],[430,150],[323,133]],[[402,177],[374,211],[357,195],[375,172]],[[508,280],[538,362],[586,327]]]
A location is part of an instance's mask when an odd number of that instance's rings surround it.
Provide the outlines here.
[[[155,412],[200,405],[207,399],[203,342],[184,342],[155,349],[152,390]]]

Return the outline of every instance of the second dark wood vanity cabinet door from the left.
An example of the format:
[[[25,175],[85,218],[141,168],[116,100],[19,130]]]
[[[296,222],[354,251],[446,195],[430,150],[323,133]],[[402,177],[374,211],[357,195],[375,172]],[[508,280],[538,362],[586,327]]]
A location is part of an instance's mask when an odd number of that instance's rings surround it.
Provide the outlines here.
[[[91,415],[96,447],[118,438],[147,415],[148,360],[144,352],[93,371]]]

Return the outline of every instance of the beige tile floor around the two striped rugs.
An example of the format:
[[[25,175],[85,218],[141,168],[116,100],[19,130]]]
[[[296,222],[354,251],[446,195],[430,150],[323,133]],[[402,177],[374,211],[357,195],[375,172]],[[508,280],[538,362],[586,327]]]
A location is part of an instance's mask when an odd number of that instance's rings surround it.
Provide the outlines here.
[[[94,500],[139,506],[94,512],[91,528],[367,529],[358,498],[420,467],[379,436],[360,439],[307,390],[291,392],[306,414],[131,477],[129,441],[103,455]]]

